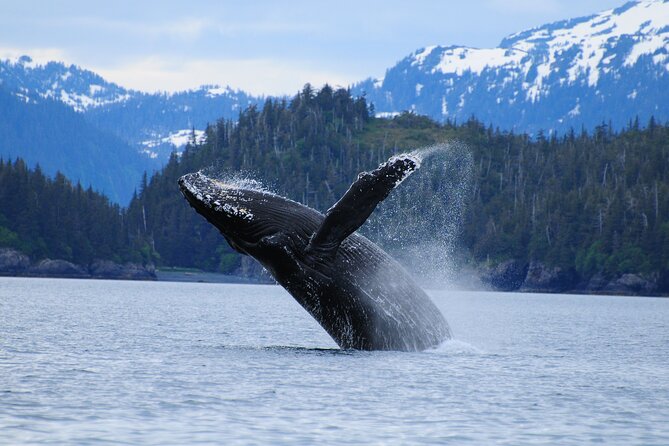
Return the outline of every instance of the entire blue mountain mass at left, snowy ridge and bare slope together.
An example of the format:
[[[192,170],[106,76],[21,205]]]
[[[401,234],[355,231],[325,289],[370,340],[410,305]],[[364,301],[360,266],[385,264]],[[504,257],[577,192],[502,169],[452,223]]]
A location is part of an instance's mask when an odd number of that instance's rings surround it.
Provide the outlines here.
[[[214,85],[148,94],[92,71],[30,57],[0,61],[0,156],[22,157],[117,203],[130,201],[144,171],[200,141],[204,128],[262,98]]]

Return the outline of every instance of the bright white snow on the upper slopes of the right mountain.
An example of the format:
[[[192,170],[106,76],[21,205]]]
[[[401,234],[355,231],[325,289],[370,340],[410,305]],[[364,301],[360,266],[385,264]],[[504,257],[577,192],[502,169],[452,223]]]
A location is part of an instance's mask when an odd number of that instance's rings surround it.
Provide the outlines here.
[[[505,69],[511,71],[506,79],[509,82],[526,79],[530,70],[534,70],[536,76],[526,83],[525,90],[527,98],[535,101],[546,93],[544,81],[552,73],[563,71],[564,56],[573,53],[566,79],[574,83],[585,78],[589,86],[596,86],[601,72],[610,71],[615,62],[617,54],[612,50],[621,39],[629,40],[632,45],[625,57],[627,66],[634,65],[644,55],[653,55],[656,64],[669,60],[669,2],[645,0],[631,6],[516,33],[504,39],[498,48],[431,46],[411,56],[411,65],[422,67],[438,51],[438,62],[425,67],[432,74],[480,75],[484,70]]]

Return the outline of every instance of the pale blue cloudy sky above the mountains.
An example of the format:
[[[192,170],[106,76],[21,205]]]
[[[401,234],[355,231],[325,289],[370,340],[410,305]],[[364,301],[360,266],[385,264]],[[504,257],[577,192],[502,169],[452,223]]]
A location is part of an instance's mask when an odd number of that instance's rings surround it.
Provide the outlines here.
[[[348,86],[428,45],[505,36],[624,0],[0,0],[0,59],[63,61],[126,88],[293,94]]]

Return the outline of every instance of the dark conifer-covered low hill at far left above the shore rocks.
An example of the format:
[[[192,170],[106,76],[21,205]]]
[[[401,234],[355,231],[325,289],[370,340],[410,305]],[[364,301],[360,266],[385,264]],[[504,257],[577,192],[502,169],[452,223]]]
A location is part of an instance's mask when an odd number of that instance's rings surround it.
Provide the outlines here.
[[[0,247],[83,265],[147,262],[150,248],[128,232],[126,221],[119,205],[90,187],[61,173],[49,178],[21,159],[0,159]]]

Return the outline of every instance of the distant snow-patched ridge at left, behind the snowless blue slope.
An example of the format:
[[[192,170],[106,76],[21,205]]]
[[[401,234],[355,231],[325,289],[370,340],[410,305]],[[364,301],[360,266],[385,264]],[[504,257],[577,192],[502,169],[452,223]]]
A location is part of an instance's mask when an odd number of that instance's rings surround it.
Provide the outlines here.
[[[189,142],[183,135],[190,135],[193,129],[202,132],[207,123],[234,119],[241,109],[262,100],[217,85],[179,93],[143,93],[107,82],[76,65],[42,65],[29,56],[0,61],[0,88],[33,104],[62,102],[158,162]]]

